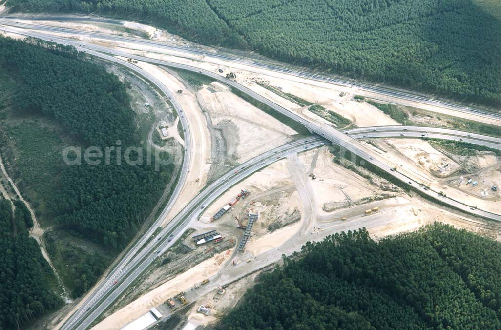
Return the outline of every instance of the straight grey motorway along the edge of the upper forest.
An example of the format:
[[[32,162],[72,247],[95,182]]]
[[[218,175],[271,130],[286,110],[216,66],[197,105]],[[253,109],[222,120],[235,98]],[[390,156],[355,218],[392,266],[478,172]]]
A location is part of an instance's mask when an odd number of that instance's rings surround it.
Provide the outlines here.
[[[109,40],[109,41],[116,41],[116,42],[130,42],[134,44],[140,44],[140,45],[146,45],[146,46],[151,46],[151,47],[158,47],[161,49],[168,49],[171,51],[177,51],[181,53],[186,53],[186,54],[192,54],[192,55],[198,55],[202,57],[208,57],[208,58],[216,58],[224,61],[229,61],[233,63],[241,63],[245,64],[247,66],[253,66],[256,68],[260,69],[266,69],[266,70],[272,70],[275,72],[281,72],[285,73],[288,75],[292,76],[297,76],[297,77],[302,77],[302,78],[308,78],[311,80],[315,81],[320,81],[320,82],[327,82],[327,83],[332,83],[332,84],[337,84],[345,87],[356,87],[360,90],[364,91],[369,91],[369,92],[375,92],[381,95],[387,95],[391,96],[394,98],[402,99],[402,100],[410,100],[410,101],[416,101],[432,106],[439,106],[439,107],[445,107],[445,108],[450,108],[456,111],[461,111],[461,112],[467,112],[467,113],[473,113],[476,115],[484,116],[484,117],[491,117],[491,118],[501,118],[501,114],[499,113],[494,113],[494,112],[487,112],[483,111],[481,109],[473,108],[473,107],[465,107],[462,105],[454,104],[452,102],[447,102],[443,100],[434,100],[430,99],[429,96],[426,95],[418,95],[416,93],[412,93],[410,91],[404,91],[404,90],[397,90],[397,89],[392,89],[388,87],[383,87],[379,85],[370,85],[370,84],[365,84],[365,83],[360,83],[356,82],[353,80],[348,80],[348,79],[342,79],[342,78],[334,78],[334,77],[328,77],[328,76],[323,76],[319,74],[313,74],[311,72],[307,71],[302,71],[302,70],[295,70],[295,69],[289,69],[283,66],[279,66],[276,64],[268,64],[264,62],[259,62],[251,59],[242,59],[242,58],[237,58],[234,55],[224,55],[224,54],[217,54],[217,53],[211,53],[211,52],[206,52],[203,50],[199,49],[193,49],[193,48],[186,48],[186,47],[179,47],[175,45],[170,45],[164,42],[158,42],[158,41],[152,41],[152,40],[144,40],[144,39],[139,39],[139,38],[129,38],[129,37],[122,37],[122,36],[112,36],[112,35],[107,35],[103,33],[95,33],[95,32],[86,32],[86,31],[79,31],[75,29],[68,29],[68,28],[54,28],[54,27],[49,27],[49,26],[44,26],[44,25],[36,25],[36,24],[25,24],[25,23],[19,23],[21,20],[31,20],[31,21],[87,21],[87,22],[102,22],[102,23],[113,23],[113,24],[123,24],[123,21],[120,20],[114,20],[114,19],[108,19],[108,18],[89,18],[89,17],[81,17],[81,16],[67,16],[67,17],[61,17],[61,16],[38,16],[38,17],[9,17],[9,16],[4,16],[0,17],[0,22],[3,24],[11,25],[11,26],[17,26],[21,28],[28,28],[28,29],[33,29],[33,30],[41,30],[41,31],[51,31],[51,32],[58,32],[58,33],[69,33],[71,35],[78,35],[78,36],[87,36],[91,38],[100,38],[104,40]]]

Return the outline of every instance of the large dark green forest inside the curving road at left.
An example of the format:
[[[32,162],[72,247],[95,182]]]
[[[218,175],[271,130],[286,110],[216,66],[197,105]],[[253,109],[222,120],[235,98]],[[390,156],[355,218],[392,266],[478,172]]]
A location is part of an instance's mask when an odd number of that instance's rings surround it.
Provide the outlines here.
[[[42,225],[53,227],[45,236],[48,251],[65,285],[79,296],[137,233],[173,165],[157,164],[154,152],[150,162],[146,152],[141,158],[133,152],[131,159],[142,164],[126,163],[124,150],[141,142],[125,87],[73,48],[0,38],[0,91],[6,93],[0,98],[4,159]],[[62,157],[68,145],[116,148],[109,165],[103,158],[99,165],[69,166]],[[108,254],[89,252],[73,238]]]

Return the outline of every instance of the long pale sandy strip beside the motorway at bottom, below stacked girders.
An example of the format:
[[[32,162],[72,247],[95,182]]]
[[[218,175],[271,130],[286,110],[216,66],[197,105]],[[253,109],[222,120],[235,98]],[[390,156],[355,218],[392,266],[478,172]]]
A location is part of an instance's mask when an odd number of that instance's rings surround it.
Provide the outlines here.
[[[93,329],[119,329],[144,313],[148,312],[151,308],[164,303],[167,299],[174,296],[178,292],[186,291],[190,287],[208,278],[222,267],[223,263],[218,260],[227,259],[231,253],[219,253],[213,258],[205,260],[198,265],[190,268],[182,274],[174,277],[170,281],[160,285],[159,287],[149,291],[138,299],[134,300],[127,306],[117,310],[110,316],[106,317],[103,321],[98,323]]]

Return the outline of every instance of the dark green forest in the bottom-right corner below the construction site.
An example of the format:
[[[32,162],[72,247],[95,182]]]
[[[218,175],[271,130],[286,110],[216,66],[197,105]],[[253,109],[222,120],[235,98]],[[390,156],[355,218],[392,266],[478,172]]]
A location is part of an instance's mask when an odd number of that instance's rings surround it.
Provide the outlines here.
[[[260,277],[224,329],[501,328],[501,244],[435,223],[374,242],[308,242]]]

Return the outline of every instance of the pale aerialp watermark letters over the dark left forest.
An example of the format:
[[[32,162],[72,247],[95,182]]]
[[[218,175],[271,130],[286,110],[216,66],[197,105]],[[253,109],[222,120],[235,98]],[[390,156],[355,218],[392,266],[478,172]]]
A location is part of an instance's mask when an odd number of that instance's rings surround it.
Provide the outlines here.
[[[152,150],[153,149],[153,150]],[[82,148],[79,146],[68,146],[63,149],[63,161],[68,166],[87,164],[98,165],[154,165],[155,171],[159,171],[162,166],[173,164],[175,157],[164,150],[146,147],[128,146],[122,147],[122,141],[117,140],[114,146],[97,147],[90,146]]]

